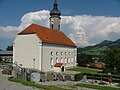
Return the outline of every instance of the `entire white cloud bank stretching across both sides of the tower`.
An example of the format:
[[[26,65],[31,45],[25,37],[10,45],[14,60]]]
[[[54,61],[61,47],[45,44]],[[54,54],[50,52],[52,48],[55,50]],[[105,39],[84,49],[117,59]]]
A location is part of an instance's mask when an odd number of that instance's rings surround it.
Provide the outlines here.
[[[75,15],[61,16],[61,18],[61,31],[77,46],[94,45],[105,39],[120,38],[120,17]],[[18,27],[0,26],[0,38],[11,38],[12,42],[18,32],[32,23],[49,27],[49,11],[42,10],[25,14]]]

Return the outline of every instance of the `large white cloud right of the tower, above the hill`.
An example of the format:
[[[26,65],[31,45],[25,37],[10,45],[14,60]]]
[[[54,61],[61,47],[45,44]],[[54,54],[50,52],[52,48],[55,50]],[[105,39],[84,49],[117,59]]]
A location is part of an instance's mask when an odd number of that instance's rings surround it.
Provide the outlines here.
[[[62,30],[78,45],[88,46],[105,39],[120,38],[120,17],[62,16]],[[67,30],[67,31],[66,31]]]

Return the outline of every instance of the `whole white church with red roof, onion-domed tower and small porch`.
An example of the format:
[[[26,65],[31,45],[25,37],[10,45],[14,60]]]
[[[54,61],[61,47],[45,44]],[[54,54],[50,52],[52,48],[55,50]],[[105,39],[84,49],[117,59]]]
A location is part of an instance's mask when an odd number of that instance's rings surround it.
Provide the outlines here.
[[[50,28],[32,24],[16,36],[13,63],[24,68],[64,72],[75,67],[77,46],[60,31],[60,11],[55,0],[50,12]]]

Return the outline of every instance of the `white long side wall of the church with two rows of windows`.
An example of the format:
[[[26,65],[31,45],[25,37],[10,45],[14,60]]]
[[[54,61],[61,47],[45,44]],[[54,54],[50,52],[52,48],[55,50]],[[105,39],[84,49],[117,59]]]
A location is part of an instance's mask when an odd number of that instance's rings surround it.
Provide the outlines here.
[[[43,70],[54,70],[56,63],[64,63],[65,67],[76,66],[75,52],[74,47],[43,44]],[[51,60],[53,60],[53,64]],[[47,63],[49,63],[49,65]]]

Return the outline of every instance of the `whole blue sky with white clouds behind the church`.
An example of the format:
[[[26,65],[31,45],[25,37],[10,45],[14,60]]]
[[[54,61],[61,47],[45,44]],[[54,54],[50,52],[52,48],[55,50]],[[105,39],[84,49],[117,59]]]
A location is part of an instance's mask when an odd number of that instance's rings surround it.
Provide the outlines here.
[[[120,38],[120,0],[57,0],[61,31],[77,46]],[[49,27],[54,0],[0,0],[0,48],[32,23]]]

